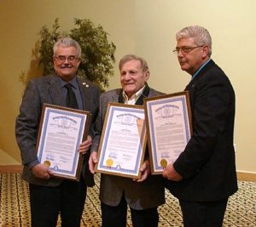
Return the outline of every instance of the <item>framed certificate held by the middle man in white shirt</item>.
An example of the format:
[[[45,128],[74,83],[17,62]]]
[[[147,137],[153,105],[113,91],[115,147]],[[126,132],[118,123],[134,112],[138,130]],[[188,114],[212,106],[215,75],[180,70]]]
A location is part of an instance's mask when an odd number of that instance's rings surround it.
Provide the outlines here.
[[[144,109],[108,103],[96,172],[140,179],[146,145]]]

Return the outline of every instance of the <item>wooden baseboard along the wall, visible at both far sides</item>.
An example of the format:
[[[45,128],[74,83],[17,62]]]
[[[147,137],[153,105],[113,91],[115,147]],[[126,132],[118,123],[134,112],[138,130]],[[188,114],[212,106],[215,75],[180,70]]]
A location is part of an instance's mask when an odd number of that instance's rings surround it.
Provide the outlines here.
[[[22,165],[2,165],[0,173],[21,173]],[[237,179],[256,182],[256,173],[237,172]]]

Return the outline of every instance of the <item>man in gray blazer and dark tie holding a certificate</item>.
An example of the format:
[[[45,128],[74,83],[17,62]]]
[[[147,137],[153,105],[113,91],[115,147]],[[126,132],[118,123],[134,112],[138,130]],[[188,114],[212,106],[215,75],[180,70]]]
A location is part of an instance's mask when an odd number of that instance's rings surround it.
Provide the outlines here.
[[[98,111],[99,91],[89,81],[80,80],[76,73],[81,48],[71,38],[62,38],[54,45],[55,74],[28,83],[16,120],[16,139],[20,147],[22,178],[29,183],[32,226],[55,226],[61,213],[61,226],[80,226],[84,209],[86,184],[52,177],[52,170],[38,162],[36,140],[43,104],[67,105],[67,86],[76,97],[79,110],[90,111],[92,123]],[[90,149],[92,131],[79,146],[84,154]],[[84,168],[84,166],[83,166]]]

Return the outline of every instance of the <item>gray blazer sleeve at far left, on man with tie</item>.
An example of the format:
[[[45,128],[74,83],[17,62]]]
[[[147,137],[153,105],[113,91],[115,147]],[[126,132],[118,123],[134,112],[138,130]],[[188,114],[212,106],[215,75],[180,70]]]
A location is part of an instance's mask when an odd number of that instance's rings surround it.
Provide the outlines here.
[[[35,165],[38,162],[36,142],[38,124],[41,116],[41,103],[36,83],[31,81],[26,87],[20,105],[20,114],[17,116],[15,135],[20,147],[23,165]],[[30,167],[32,167],[30,166]]]

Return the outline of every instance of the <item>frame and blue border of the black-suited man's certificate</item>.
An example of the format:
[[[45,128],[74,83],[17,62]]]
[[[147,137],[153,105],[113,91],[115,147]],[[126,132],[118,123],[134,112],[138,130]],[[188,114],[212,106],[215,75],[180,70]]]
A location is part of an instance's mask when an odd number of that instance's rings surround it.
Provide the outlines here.
[[[154,138],[154,122],[153,122],[153,111],[152,106],[153,105],[159,105],[159,104],[167,104],[170,102],[176,102],[180,101],[182,102],[183,106],[183,116],[184,116],[184,125],[185,125],[185,138],[186,143],[189,142],[189,139],[191,137],[192,133],[192,126],[191,126],[191,111],[190,111],[190,105],[189,105],[189,93],[187,91],[176,93],[176,94],[165,94],[160,95],[153,98],[146,98],[144,100],[144,106],[146,109],[146,122],[148,126],[148,141],[149,141],[149,155],[150,155],[150,163],[151,163],[151,172],[153,174],[160,174],[163,171],[163,167],[158,165],[157,160],[157,150],[155,145],[155,138]]]

